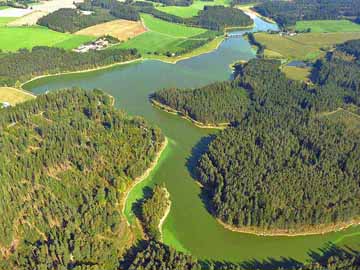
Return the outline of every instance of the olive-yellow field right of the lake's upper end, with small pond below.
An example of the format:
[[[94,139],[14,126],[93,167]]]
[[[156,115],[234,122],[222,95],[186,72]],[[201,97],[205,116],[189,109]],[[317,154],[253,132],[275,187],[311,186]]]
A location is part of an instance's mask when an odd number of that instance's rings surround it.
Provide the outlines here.
[[[360,32],[351,33],[306,33],[294,37],[278,34],[256,33],[255,38],[263,44],[265,56],[297,60],[315,60],[335,44],[359,39]]]

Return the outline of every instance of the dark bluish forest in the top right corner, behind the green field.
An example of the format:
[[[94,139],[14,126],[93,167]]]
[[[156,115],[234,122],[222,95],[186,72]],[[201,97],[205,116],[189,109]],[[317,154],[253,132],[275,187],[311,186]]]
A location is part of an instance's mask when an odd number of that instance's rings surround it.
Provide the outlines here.
[[[294,25],[301,20],[355,19],[360,16],[358,0],[264,1],[254,9],[272,18],[281,27]]]

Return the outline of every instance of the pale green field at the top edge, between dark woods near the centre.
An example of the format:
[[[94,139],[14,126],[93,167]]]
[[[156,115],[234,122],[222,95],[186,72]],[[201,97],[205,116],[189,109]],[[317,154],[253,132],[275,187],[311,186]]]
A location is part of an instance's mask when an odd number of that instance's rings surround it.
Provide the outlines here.
[[[183,18],[189,18],[196,16],[200,10],[204,9],[204,6],[228,6],[229,4],[230,0],[214,0],[212,2],[196,0],[191,6],[188,7],[158,6],[156,8],[169,14],[173,14]]]

